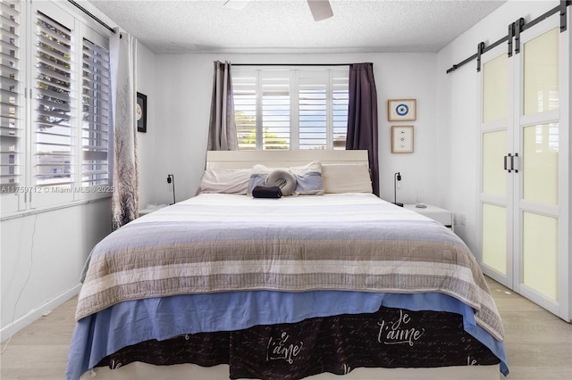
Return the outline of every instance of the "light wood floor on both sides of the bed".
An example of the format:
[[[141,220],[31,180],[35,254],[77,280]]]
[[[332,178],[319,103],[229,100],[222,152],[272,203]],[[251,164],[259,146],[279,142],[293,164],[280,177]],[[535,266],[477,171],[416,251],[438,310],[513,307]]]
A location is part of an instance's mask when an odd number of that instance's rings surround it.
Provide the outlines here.
[[[572,325],[495,281],[489,285],[504,321],[508,378],[572,379]],[[73,298],[2,343],[2,380],[65,377],[76,302]]]

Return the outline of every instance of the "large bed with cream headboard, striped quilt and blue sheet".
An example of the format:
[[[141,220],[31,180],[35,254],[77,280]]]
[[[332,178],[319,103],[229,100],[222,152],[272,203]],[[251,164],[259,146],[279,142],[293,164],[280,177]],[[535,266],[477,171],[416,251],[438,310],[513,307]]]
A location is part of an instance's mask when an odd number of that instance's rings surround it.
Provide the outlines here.
[[[473,255],[371,194],[365,151],[209,152],[196,196],[97,244],[76,320],[73,380],[509,373]]]

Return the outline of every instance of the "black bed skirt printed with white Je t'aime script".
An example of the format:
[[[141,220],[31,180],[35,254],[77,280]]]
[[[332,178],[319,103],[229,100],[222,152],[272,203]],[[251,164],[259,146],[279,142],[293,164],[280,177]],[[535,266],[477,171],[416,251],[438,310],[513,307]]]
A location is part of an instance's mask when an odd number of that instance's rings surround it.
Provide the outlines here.
[[[354,368],[433,368],[500,363],[463,329],[462,316],[381,308],[232,332],[180,335],[125,347],[97,367],[194,363],[230,366],[230,378],[300,379]]]

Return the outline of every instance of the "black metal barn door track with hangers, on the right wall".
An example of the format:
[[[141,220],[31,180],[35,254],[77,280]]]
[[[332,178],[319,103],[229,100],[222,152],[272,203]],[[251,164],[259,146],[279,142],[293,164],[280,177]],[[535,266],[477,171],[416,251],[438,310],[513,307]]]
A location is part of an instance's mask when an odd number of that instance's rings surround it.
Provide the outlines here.
[[[517,21],[515,21],[509,25],[509,34],[507,34],[507,36],[500,38],[499,40],[493,42],[492,45],[488,45],[488,46],[484,46],[484,42],[481,42],[480,44],[477,45],[477,53],[471,55],[470,57],[468,57],[467,59],[465,59],[462,62],[458,62],[457,64],[452,65],[450,67],[450,69],[447,70],[447,74],[449,74],[451,71],[457,70],[459,67],[461,67],[465,63],[473,61],[475,58],[477,59],[476,70],[480,71],[481,70],[481,62],[480,62],[481,54],[484,54],[484,53],[488,52],[489,50],[492,50],[493,48],[497,47],[498,45],[501,45],[503,42],[507,42],[507,41],[509,42],[509,56],[511,56],[512,55],[512,38],[513,37],[518,38],[517,47],[515,48],[515,52],[519,53],[519,49],[520,49],[519,34],[523,31],[525,31],[526,29],[530,29],[530,28],[534,27],[534,25],[538,24],[539,22],[548,19],[551,15],[553,15],[557,12],[560,12],[560,31],[561,32],[565,31],[567,29],[566,7],[570,4],[572,4],[572,0],[560,0],[559,5],[555,6],[550,11],[545,12],[543,15],[535,18],[533,21],[525,22],[525,19],[523,19],[523,18],[518,19]]]

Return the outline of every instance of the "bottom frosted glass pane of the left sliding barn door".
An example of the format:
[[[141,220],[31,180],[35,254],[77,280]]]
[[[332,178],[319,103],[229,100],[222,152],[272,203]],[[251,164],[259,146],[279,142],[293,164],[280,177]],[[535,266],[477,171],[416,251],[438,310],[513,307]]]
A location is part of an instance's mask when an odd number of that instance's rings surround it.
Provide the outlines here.
[[[502,275],[507,274],[507,209],[483,203],[483,263]]]

